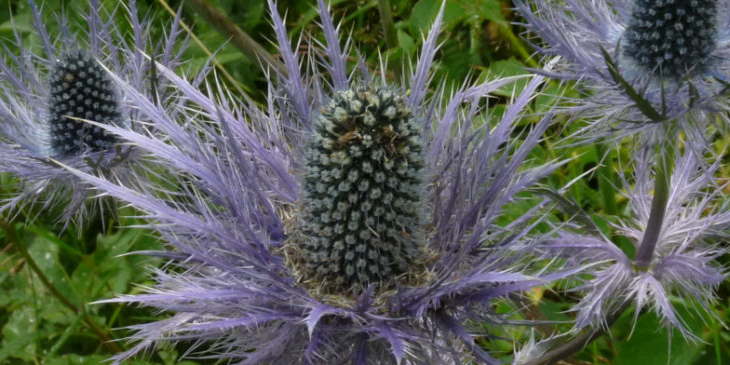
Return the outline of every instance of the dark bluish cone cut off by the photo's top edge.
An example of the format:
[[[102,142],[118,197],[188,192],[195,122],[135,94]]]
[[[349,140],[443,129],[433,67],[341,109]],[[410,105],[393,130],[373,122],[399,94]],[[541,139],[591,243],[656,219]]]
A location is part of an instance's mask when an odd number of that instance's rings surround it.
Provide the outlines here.
[[[715,50],[716,13],[716,0],[638,0],[623,53],[664,76],[701,71]]]

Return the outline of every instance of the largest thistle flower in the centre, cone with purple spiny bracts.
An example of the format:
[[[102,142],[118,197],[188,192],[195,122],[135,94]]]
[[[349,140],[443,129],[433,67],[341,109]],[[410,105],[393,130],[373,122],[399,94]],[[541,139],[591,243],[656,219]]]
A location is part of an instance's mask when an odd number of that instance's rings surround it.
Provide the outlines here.
[[[241,364],[496,363],[469,326],[502,323],[494,299],[559,276],[527,271],[534,211],[496,222],[555,168],[525,166],[547,118],[515,130],[543,78],[499,119],[484,100],[514,78],[428,97],[442,13],[404,86],[364,60],[350,73],[323,1],[326,43],[309,44],[318,61],[302,72],[269,7],[287,72],[263,108],[161,67],[189,113],[179,123],[115,79],[164,138],[104,128],[180,177],[170,191],[75,172],[143,211],[172,248],[153,253],[170,261],[148,293],[109,300],[174,313],[136,326],[116,361],[167,340]]]

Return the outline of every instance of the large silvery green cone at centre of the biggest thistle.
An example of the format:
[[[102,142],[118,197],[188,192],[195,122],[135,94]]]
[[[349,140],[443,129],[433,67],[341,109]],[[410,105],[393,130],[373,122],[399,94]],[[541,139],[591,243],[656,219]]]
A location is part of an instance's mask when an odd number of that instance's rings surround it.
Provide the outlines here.
[[[307,148],[305,276],[366,287],[422,256],[421,126],[402,93],[362,85],[322,108]]]

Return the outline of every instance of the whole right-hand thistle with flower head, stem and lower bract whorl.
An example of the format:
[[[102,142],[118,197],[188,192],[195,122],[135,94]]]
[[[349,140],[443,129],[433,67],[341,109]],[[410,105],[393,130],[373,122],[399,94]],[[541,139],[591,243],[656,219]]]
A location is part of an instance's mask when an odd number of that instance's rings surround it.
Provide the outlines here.
[[[588,120],[584,137],[612,135],[618,144],[641,132],[631,155],[633,178],[621,173],[630,218],[612,227],[631,240],[635,255],[622,251],[582,215],[541,246],[547,257],[586,268],[588,275],[571,288],[582,295],[571,309],[574,328],[605,329],[627,308],[634,306],[638,317],[650,307],[666,327],[697,340],[670,297],[711,317],[716,290],[727,277],[716,259],[728,253],[730,210],[715,176],[721,158],[707,155],[713,126],[727,122],[723,94],[730,64],[724,54],[730,46],[730,3],[517,4],[527,27],[544,42],[535,42],[538,51],[560,57],[558,70],[549,74],[577,80],[594,94],[567,110],[577,120]],[[519,358],[535,363],[530,361],[545,355],[555,341],[531,341]]]

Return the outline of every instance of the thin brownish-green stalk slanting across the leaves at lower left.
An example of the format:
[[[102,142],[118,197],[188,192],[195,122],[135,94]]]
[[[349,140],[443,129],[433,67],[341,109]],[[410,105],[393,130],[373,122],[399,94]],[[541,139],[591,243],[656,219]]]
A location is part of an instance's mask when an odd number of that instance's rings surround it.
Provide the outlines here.
[[[25,262],[28,264],[28,266],[33,270],[33,272],[38,276],[38,278],[41,280],[43,285],[48,289],[48,291],[53,294],[63,305],[65,305],[68,309],[71,310],[71,312],[77,314],[77,315],[83,315],[84,316],[84,323],[89,327],[89,329],[94,332],[94,335],[97,336],[102,341],[102,344],[109,349],[110,351],[117,353],[124,351],[116,342],[113,342],[112,338],[109,337],[109,335],[101,328],[99,327],[86,313],[86,309],[83,306],[76,306],[69,300],[63,293],[61,293],[58,288],[56,288],[53,283],[48,279],[48,277],[43,273],[40,267],[38,267],[38,264],[33,260],[33,257],[30,256],[30,253],[20,243],[20,240],[18,239],[18,234],[15,231],[15,227],[13,227],[12,224],[9,224],[5,221],[0,221],[0,228],[5,231],[5,234],[7,235],[8,240],[10,243],[15,246],[15,248],[18,250],[20,255],[23,257]]]

